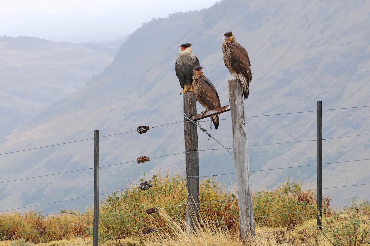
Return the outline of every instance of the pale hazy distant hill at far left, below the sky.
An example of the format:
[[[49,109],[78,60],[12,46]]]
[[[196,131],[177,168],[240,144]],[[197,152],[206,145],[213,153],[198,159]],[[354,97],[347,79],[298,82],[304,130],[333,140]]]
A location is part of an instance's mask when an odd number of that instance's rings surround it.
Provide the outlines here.
[[[113,56],[68,42],[0,37],[0,112],[3,115],[0,142],[52,103],[83,88],[92,76],[101,73]]]

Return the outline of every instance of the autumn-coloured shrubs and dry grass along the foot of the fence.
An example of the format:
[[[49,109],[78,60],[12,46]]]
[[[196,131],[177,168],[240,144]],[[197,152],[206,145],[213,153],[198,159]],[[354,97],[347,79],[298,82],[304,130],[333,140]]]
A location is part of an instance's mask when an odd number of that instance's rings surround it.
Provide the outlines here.
[[[144,191],[134,188],[113,193],[101,201],[101,245],[242,245],[239,240],[238,221],[235,221],[239,217],[238,201],[231,190],[227,190],[213,179],[202,180],[199,187],[200,229],[195,233],[186,233],[186,206],[181,206],[186,203],[185,180],[179,179],[177,174],[166,173],[164,177],[153,175],[149,183],[158,185]],[[133,187],[136,185],[131,184],[127,188]],[[357,205],[353,202],[353,207],[336,211],[330,208],[330,199],[326,198],[321,233],[316,228],[316,196],[304,190],[299,183],[285,180],[276,190],[253,194],[256,237],[250,242],[251,245],[370,244],[370,205],[366,205],[369,202],[359,201]],[[359,205],[361,203],[365,205]],[[167,209],[160,209],[155,214],[145,214],[145,210],[151,207]],[[0,246],[33,246],[33,243],[38,246],[66,246],[78,243],[92,246],[89,242],[92,241],[92,217],[92,209],[87,209],[84,213],[64,210],[63,214],[49,216],[33,211],[24,214],[3,214],[0,215],[0,237],[11,237],[0,241]],[[228,222],[209,224],[220,221]],[[141,235],[143,228],[160,229],[148,235]],[[20,235],[15,236],[16,234]]]

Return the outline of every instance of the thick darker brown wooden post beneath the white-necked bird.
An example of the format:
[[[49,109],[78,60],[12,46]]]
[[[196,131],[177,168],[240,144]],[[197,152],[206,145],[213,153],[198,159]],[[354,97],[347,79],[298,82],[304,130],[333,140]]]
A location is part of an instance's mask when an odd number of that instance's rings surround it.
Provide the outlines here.
[[[191,117],[196,114],[195,93],[184,93],[184,113]],[[186,232],[198,228],[199,221],[199,155],[197,125],[184,118],[186,188],[188,190],[186,206]]]

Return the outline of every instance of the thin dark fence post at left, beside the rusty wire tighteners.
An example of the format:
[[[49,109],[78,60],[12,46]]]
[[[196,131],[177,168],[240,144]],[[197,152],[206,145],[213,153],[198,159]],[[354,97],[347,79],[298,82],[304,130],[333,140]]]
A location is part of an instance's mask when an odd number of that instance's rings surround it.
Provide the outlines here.
[[[99,130],[94,130],[94,225],[93,246],[99,242]]]

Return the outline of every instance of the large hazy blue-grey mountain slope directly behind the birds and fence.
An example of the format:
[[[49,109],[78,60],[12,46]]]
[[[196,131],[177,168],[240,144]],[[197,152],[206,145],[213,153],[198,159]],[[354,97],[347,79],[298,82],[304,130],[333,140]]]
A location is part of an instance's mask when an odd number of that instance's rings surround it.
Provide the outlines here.
[[[43,206],[83,209],[93,194],[93,130],[100,136],[100,193],[125,188],[152,169],[184,167],[184,131],[181,88],[174,63],[184,42],[193,44],[207,76],[228,100],[232,76],[222,60],[226,31],[249,52],[253,82],[245,100],[250,170],[253,187],[273,187],[285,177],[309,182],[316,188],[316,101],[323,109],[369,105],[370,3],[313,0],[223,0],[207,10],[178,13],[144,24],[130,35],[112,63],[86,87],[40,112],[29,124],[7,136],[2,153],[66,143],[48,148],[0,155],[1,180],[67,172],[2,183],[1,209],[68,200]],[[323,162],[368,159],[370,107],[323,111]],[[203,108],[198,105],[198,111]],[[312,112],[304,112],[312,111]],[[282,114],[304,112],[297,114]],[[275,115],[277,114],[277,115]],[[211,134],[232,146],[229,113],[221,115]],[[201,122],[209,129],[209,122]],[[139,125],[151,127],[138,134]],[[133,131],[133,132],[131,132]],[[128,132],[123,134],[124,132]],[[122,134],[121,134],[122,133]],[[111,135],[111,136],[108,136]],[[221,148],[198,131],[199,149]],[[335,138],[335,139],[329,139]],[[87,139],[85,141],[80,141]],[[78,141],[78,142],[74,142]],[[306,142],[300,142],[306,141]],[[291,143],[283,143],[291,142]],[[282,143],[265,145],[267,143]],[[137,157],[165,156],[137,164]],[[170,156],[166,156],[170,155]],[[233,173],[234,163],[225,150],[202,151],[200,174]],[[323,187],[369,183],[368,161],[326,164]],[[72,170],[81,170],[69,172]],[[21,170],[21,171],[20,171]],[[219,176],[226,184],[234,175]],[[367,186],[323,191],[333,204],[349,204],[351,197],[369,198]],[[81,198],[87,197],[87,198]],[[75,198],[81,198],[71,200]],[[46,207],[46,208],[45,208]],[[29,208],[28,208],[29,209]]]

